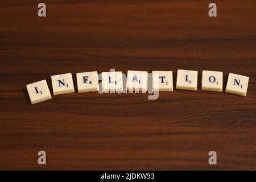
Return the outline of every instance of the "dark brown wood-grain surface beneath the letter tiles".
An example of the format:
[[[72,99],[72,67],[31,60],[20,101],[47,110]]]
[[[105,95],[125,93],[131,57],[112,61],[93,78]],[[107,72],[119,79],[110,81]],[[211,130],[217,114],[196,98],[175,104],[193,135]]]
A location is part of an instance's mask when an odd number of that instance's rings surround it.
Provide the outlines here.
[[[0,2],[0,169],[256,169],[256,1]],[[199,71],[197,92],[72,93],[26,85],[86,71]],[[250,77],[247,97],[200,90],[201,71]],[[76,78],[73,80],[76,82]],[[38,151],[47,165],[38,165]],[[208,152],[217,152],[217,166]]]

